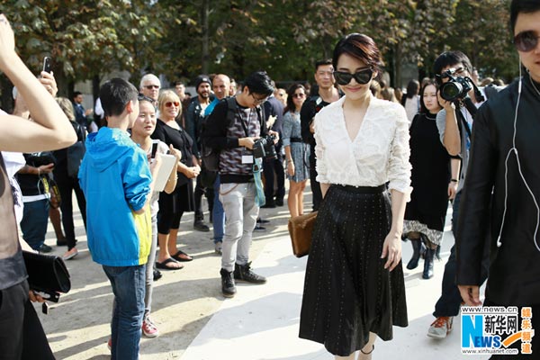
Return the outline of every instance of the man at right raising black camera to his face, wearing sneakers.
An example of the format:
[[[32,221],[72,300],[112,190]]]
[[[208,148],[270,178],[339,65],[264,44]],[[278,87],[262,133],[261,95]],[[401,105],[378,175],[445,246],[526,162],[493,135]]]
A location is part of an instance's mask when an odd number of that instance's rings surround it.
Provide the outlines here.
[[[452,232],[456,236],[459,203],[469,162],[473,115],[483,99],[480,90],[471,79],[471,71],[473,71],[471,61],[463,52],[446,51],[442,53],[435,60],[433,69],[439,85],[439,103],[443,105],[443,110],[437,114],[439,135],[448,154],[451,157],[461,159],[461,175],[455,176],[453,172],[451,180],[451,184],[456,187],[455,199],[452,204]],[[433,316],[437,319],[428,329],[428,337],[430,338],[446,338],[448,332],[452,330],[453,318],[459,312],[462,298],[455,284],[455,264],[455,246],[453,246],[445,266],[441,297],[433,312]],[[482,266],[483,282],[487,277],[487,263],[484,262]]]

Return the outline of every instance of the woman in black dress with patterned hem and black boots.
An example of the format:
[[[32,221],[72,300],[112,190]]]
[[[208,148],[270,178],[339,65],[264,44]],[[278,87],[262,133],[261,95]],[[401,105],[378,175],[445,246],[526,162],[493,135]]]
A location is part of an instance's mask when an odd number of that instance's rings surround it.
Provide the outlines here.
[[[422,88],[420,112],[410,125],[413,190],[403,223],[403,234],[410,238],[414,251],[408,269],[419,265],[422,243],[426,246],[424,279],[433,277],[433,257],[443,240],[448,210],[450,156],[441,143],[435,121],[441,109],[437,101],[437,86],[430,81]]]

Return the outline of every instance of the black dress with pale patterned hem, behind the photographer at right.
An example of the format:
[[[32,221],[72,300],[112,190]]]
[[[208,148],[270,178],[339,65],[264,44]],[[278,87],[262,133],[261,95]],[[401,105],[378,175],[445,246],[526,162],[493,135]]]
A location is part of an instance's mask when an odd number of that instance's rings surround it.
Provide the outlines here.
[[[405,210],[403,234],[426,235],[440,245],[448,209],[450,156],[440,140],[436,115],[417,114],[410,125],[412,193]]]

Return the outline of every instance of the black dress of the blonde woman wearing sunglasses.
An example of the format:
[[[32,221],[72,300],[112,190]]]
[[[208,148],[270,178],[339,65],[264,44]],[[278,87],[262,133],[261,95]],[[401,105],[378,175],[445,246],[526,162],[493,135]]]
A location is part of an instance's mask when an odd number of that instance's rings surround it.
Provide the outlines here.
[[[182,159],[180,161],[185,166],[193,166],[193,139],[191,139],[182,127],[176,130],[157,119],[156,130],[152,133],[151,138],[160,139],[166,145],[172,144],[182,152]],[[159,193],[159,211],[157,213],[158,232],[168,234],[167,227],[169,229],[177,229],[177,222],[180,221],[179,218],[182,217],[182,214],[185,211],[193,211],[194,207],[193,181],[179,172],[175,191],[173,193]],[[169,224],[171,221],[172,224]]]

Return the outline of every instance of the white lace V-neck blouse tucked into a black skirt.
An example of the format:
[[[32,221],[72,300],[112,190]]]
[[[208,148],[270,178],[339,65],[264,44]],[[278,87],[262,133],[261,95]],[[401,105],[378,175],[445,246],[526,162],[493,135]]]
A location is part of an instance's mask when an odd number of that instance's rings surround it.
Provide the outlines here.
[[[379,186],[409,194],[409,120],[399,103],[372,97],[364,121],[351,140],[343,115],[345,96],[315,116],[317,181]]]

